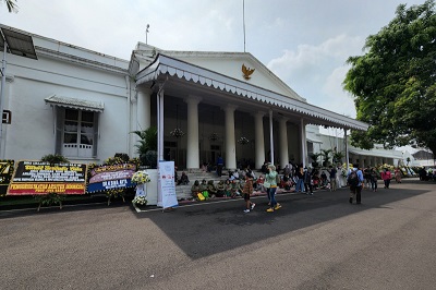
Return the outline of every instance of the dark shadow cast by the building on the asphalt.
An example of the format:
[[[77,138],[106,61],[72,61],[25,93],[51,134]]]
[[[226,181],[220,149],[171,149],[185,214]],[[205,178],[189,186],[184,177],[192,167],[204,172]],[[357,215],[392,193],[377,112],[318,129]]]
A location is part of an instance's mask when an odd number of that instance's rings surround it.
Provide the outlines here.
[[[267,198],[252,198],[253,212],[244,214],[242,200],[180,206],[170,213],[138,213],[137,218],[154,221],[184,253],[202,258],[241,245],[279,237],[295,230],[346,217],[370,208],[392,209],[391,203],[410,198],[426,190],[364,190],[362,204],[349,203],[348,189],[318,191],[314,195],[278,195],[282,208],[266,213]]]

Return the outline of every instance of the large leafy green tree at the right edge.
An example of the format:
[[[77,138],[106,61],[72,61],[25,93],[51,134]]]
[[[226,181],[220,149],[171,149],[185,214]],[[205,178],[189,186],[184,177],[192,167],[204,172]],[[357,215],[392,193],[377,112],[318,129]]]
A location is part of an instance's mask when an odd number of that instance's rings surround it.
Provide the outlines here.
[[[350,57],[343,86],[355,98],[351,143],[371,149],[416,143],[436,153],[436,15],[434,0],[397,8],[395,19],[366,38],[365,55]]]

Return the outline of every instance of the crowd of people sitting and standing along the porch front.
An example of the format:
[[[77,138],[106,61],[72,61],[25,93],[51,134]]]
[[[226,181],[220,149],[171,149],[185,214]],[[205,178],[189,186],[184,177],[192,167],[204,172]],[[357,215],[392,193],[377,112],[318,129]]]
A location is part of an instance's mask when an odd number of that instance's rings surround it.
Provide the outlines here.
[[[218,160],[218,177],[222,176],[222,158]],[[287,165],[282,170],[277,170],[276,167],[267,161],[261,169],[261,172],[251,170],[250,166],[245,169],[237,169],[228,171],[228,177],[223,180],[215,182],[214,180],[202,181],[195,180],[191,186],[191,195],[193,200],[204,201],[215,197],[237,198],[243,197],[245,203],[244,213],[250,213],[254,209],[255,204],[250,201],[250,196],[254,191],[266,192],[268,197],[267,212],[271,213],[281,207],[276,201],[277,189],[284,191],[301,192],[313,195],[315,191],[325,189],[337,191],[338,188],[348,185],[350,188],[350,203],[355,198],[356,203],[361,203],[361,192],[363,189],[377,191],[378,180],[382,179],[384,188],[389,189],[392,178],[397,183],[401,183],[401,170],[395,169],[393,174],[389,168],[385,168],[382,172],[375,167],[360,168],[359,165],[353,167],[343,174],[340,167],[329,166],[324,170],[317,168],[306,168],[303,165]],[[355,174],[354,174],[355,173]],[[433,172],[432,172],[433,173]],[[436,173],[436,172],[435,172]],[[356,178],[355,183],[350,181],[350,177]],[[346,182],[340,177],[344,177]],[[177,184],[189,184],[189,178],[185,172],[182,172],[180,179],[177,179]]]

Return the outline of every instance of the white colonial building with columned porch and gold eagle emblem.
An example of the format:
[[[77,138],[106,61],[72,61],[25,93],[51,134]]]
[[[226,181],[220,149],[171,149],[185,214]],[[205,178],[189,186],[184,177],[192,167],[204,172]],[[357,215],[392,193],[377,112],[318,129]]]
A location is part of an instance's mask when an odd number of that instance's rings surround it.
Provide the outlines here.
[[[131,132],[158,126],[159,159],[197,169],[307,162],[306,125],[367,124],[307,104],[247,52],[168,51],[138,43],[130,60],[0,25],[1,159],[136,156]],[[7,53],[4,53],[7,51]],[[174,130],[179,133],[174,134]],[[173,133],[171,133],[173,132]]]

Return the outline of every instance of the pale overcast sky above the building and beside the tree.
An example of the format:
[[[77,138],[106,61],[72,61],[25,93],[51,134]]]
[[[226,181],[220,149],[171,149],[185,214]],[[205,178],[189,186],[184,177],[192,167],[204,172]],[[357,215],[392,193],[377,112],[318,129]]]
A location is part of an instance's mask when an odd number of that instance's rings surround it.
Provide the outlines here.
[[[401,3],[425,0],[245,0],[245,51],[312,105],[355,118],[342,89],[350,56]],[[243,0],[0,1],[0,23],[129,60],[138,41],[166,50],[244,51]]]

